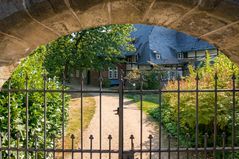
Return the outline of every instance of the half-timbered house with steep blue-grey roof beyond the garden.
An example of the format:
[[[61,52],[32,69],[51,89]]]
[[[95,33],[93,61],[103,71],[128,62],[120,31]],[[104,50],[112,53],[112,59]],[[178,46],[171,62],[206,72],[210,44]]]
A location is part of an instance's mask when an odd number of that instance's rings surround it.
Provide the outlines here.
[[[154,66],[160,66],[165,80],[173,80],[178,76],[188,74],[188,65],[197,67],[205,59],[206,51],[215,58],[217,49],[201,39],[186,35],[176,30],[159,26],[135,25],[136,30],[131,33],[134,39],[135,52],[123,53],[124,63],[109,67],[102,72],[104,79],[110,85],[119,84],[118,67],[124,70],[125,75],[134,69],[150,71]],[[99,84],[99,73],[86,71],[86,83]]]

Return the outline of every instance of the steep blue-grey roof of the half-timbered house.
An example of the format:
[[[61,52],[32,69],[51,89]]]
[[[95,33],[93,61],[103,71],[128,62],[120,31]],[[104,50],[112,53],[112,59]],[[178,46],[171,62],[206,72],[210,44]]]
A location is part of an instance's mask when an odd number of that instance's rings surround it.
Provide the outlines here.
[[[136,24],[135,28],[131,36],[135,39],[138,64],[179,64],[179,52],[215,49],[206,41],[165,27]],[[156,59],[154,52],[160,53],[161,58]]]

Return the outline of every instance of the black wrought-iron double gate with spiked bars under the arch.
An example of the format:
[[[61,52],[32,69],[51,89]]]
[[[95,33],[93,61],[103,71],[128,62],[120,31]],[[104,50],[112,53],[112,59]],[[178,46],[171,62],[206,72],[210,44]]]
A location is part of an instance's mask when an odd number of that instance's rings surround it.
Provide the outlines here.
[[[87,153],[91,155],[92,158],[92,154],[93,153],[97,153],[100,155],[100,158],[102,158],[102,153],[107,153],[109,154],[109,158],[111,158],[111,154],[112,153],[116,153],[119,154],[119,159],[123,158],[123,154],[127,153],[127,152],[133,152],[133,153],[139,153],[140,154],[140,158],[142,159],[142,154],[143,153],[149,153],[149,157],[152,157],[152,153],[159,153],[159,158],[161,157],[161,153],[162,152],[168,152],[168,158],[170,158],[170,153],[171,152],[177,152],[177,158],[179,159],[180,157],[180,152],[186,152],[187,153],[187,158],[189,157],[189,153],[195,153],[196,158],[198,158],[198,153],[204,153],[204,158],[207,158],[207,153],[208,152],[213,152],[213,156],[214,158],[216,157],[215,154],[216,152],[222,152],[223,153],[223,158],[225,157],[225,152],[232,152],[232,158],[235,158],[235,152],[239,152],[239,147],[235,146],[236,144],[236,130],[235,130],[235,125],[236,125],[236,93],[239,92],[239,89],[236,88],[236,84],[235,84],[235,80],[236,80],[236,76],[233,75],[232,76],[232,89],[218,89],[218,77],[217,74],[215,74],[215,87],[214,89],[199,89],[199,77],[198,75],[195,78],[195,82],[196,82],[196,89],[191,89],[191,90],[182,90],[180,89],[180,78],[177,79],[177,85],[178,85],[178,89],[176,90],[163,90],[161,86],[159,86],[159,89],[157,90],[143,90],[143,78],[141,78],[140,80],[140,90],[129,90],[129,89],[125,89],[124,88],[124,79],[120,78],[120,86],[118,90],[103,90],[102,89],[102,74],[100,73],[100,80],[99,80],[99,90],[84,90],[83,89],[83,74],[81,75],[81,88],[80,90],[66,90],[64,88],[64,81],[63,81],[63,87],[61,90],[49,90],[46,88],[46,83],[47,83],[47,78],[46,75],[44,75],[43,77],[44,79],[44,83],[43,83],[43,90],[37,90],[37,89],[29,89],[28,86],[28,80],[29,78],[26,77],[26,85],[25,85],[25,89],[12,89],[11,88],[11,82],[9,80],[9,87],[7,89],[2,89],[1,92],[6,92],[8,93],[8,131],[7,131],[7,138],[8,138],[8,146],[7,147],[2,147],[2,135],[0,132],[0,158],[2,158],[2,152],[3,151],[7,151],[8,152],[8,159],[10,159],[11,157],[11,152],[17,152],[17,158],[19,158],[19,152],[25,152],[25,158],[29,157],[29,152],[34,152],[35,153],[35,158],[37,158],[37,153],[39,152],[43,152],[44,154],[44,158],[47,157],[47,153],[53,153],[53,157],[55,157],[55,153],[57,152],[61,152],[63,154],[63,158],[64,158],[64,153],[72,153],[72,158],[74,158],[74,154],[75,153],[81,153],[81,157],[83,158],[83,154]],[[161,83],[162,81],[159,81],[159,83]],[[26,93],[26,146],[25,147],[19,147],[19,135],[17,134],[17,144],[15,147],[11,147],[11,93]],[[43,97],[44,97],[44,147],[40,148],[38,147],[37,144],[37,137],[35,137],[35,147],[30,147],[28,145],[28,141],[29,141],[29,136],[28,136],[28,132],[29,132],[29,127],[28,127],[28,120],[29,120],[29,103],[28,103],[28,96],[29,93],[31,92],[42,92],[43,93]],[[46,97],[46,93],[61,93],[62,94],[62,148],[56,148],[55,145],[55,137],[51,137],[52,141],[53,141],[53,148],[47,148],[46,147],[46,138],[47,138],[47,134],[46,134],[46,112],[47,112],[47,97]],[[232,92],[232,143],[231,146],[225,146],[225,133],[222,133],[222,143],[220,143],[221,146],[218,146],[217,143],[217,108],[218,108],[218,93],[220,92]],[[80,144],[80,149],[76,149],[74,148],[74,135],[71,136],[72,139],[72,148],[71,149],[65,149],[64,148],[64,123],[65,123],[65,119],[64,119],[64,106],[65,106],[65,94],[67,93],[80,93],[81,94],[81,144]],[[85,149],[83,147],[83,142],[84,142],[84,138],[83,138],[83,94],[85,93],[99,93],[99,100],[100,100],[100,120],[99,120],[99,125],[100,125],[100,130],[99,130],[99,134],[100,134],[100,147],[99,149],[93,149],[92,145],[93,145],[93,141],[94,141],[94,136],[91,135],[89,137],[90,140],[90,147],[88,149]],[[119,94],[119,148],[118,150],[112,150],[111,148],[111,141],[114,139],[113,136],[109,135],[108,136],[108,141],[109,141],[109,149],[102,149],[102,94],[112,94],[112,93],[118,93]],[[124,100],[124,94],[138,94],[140,95],[140,148],[139,149],[135,149],[134,148],[134,136],[131,135],[129,137],[129,140],[131,140],[131,149],[130,150],[124,150],[124,126],[123,126],[123,100]],[[158,94],[159,95],[159,109],[160,109],[160,113],[161,113],[161,98],[162,98],[162,94],[163,93],[176,93],[177,94],[177,100],[178,100],[178,114],[177,114],[177,147],[171,147],[170,142],[172,137],[169,135],[168,136],[168,148],[162,148],[161,146],[161,142],[159,142],[159,147],[158,149],[154,149],[152,148],[152,140],[153,140],[153,136],[150,135],[149,136],[149,149],[143,149],[142,147],[142,136],[143,136],[143,127],[142,127],[142,115],[143,115],[143,96],[145,94]],[[182,148],[180,147],[180,141],[178,139],[179,133],[180,133],[180,95],[183,93],[196,93],[196,100],[195,100],[195,114],[196,114],[196,128],[195,128],[195,147],[186,147],[186,148]],[[199,106],[199,93],[214,93],[215,94],[215,101],[214,101],[214,133],[213,133],[213,147],[208,147],[207,146],[207,139],[208,139],[208,134],[205,134],[204,137],[204,147],[198,147],[198,137],[199,137],[199,130],[198,130],[198,106]],[[162,127],[162,119],[161,119],[161,114],[160,114],[160,121],[159,121],[159,125],[160,125],[160,129],[159,129],[159,141],[161,140],[161,127]],[[187,139],[189,139],[189,135],[185,134],[187,136]],[[84,140],[83,140],[84,139]]]

